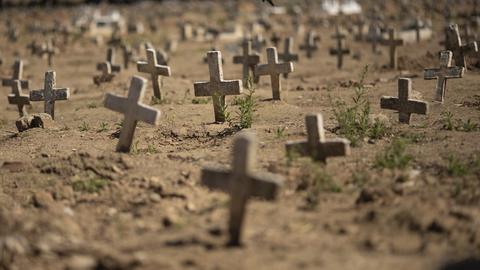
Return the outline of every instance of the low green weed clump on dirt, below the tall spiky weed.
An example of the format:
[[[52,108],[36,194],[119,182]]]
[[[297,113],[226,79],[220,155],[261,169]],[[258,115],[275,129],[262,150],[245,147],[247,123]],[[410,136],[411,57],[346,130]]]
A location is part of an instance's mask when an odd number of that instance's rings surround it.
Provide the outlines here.
[[[383,153],[375,158],[376,168],[405,169],[409,166],[413,157],[406,153],[408,141],[403,138],[395,138]]]

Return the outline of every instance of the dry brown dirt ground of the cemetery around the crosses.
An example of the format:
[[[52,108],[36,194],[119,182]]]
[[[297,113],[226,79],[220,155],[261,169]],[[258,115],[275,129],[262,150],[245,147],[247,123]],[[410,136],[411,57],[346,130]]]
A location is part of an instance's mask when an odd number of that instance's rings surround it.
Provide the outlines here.
[[[209,11],[213,17],[204,13],[208,4],[174,7],[182,12],[166,14],[170,5],[177,4],[103,8],[139,19],[155,14],[159,32],[147,29],[127,40],[149,40],[159,47],[167,37],[178,37],[179,20],[209,25],[226,20],[221,3]],[[394,7],[388,5],[386,14],[398,12]],[[42,88],[46,60],[30,56],[26,45],[43,37],[22,27],[33,21],[52,25],[76,11],[1,12],[1,32],[11,19],[20,38],[11,43],[0,37],[0,77],[10,77],[18,56],[26,62],[30,89]],[[103,97],[107,92],[126,95],[131,76],[145,75],[131,65],[113,82],[95,86],[95,65],[104,61],[107,47],[84,38],[61,48],[53,69],[57,86],[69,87],[72,95],[56,103],[54,128],[18,133],[18,112],[6,98],[10,90],[1,90],[0,269],[480,269],[479,129],[444,128],[447,111],[463,124],[469,119],[473,126],[480,124],[480,74],[473,69],[463,79],[450,80],[445,103],[433,102],[435,81],[423,80],[423,68],[438,66],[444,19],[422,11],[432,15],[435,35],[399,49],[401,71],[383,67],[387,48],[374,55],[370,44],[354,42],[351,35],[347,44],[361,58],[347,56],[344,69],[337,70],[336,58],[329,55],[334,28],[315,26],[320,50],[313,59],[299,52],[295,72],[283,81],[282,101],[269,100],[270,82],[262,78],[250,129],[259,140],[257,168],[286,181],[276,202],[249,203],[240,248],[225,246],[228,196],[200,185],[204,165],[230,164],[237,132],[229,124],[213,123],[211,102],[192,102],[193,83],[209,78],[202,59],[212,44],[179,43],[169,63],[172,77],[163,80],[165,101],[152,105],[162,111],[161,124],[140,123],[130,154],[115,152],[112,134],[123,116],[105,109]],[[272,21],[281,35],[295,37],[298,52],[303,35],[296,35],[291,19]],[[307,14],[301,20],[308,21]],[[231,62],[240,51],[237,45],[217,44],[226,60],[226,79],[241,78],[241,66]],[[264,62],[265,51],[262,57]],[[323,114],[328,138],[342,137],[333,133],[338,107],[332,98],[351,104],[365,65],[371,114],[388,118],[388,134],[362,140],[350,156],[329,159],[327,165],[289,160],[284,145],[306,138],[307,113]],[[430,103],[429,114],[413,115],[410,125],[399,124],[397,113],[379,105],[381,96],[397,96],[402,76],[412,78],[416,96]],[[229,104],[233,100],[227,97]],[[34,102],[28,110],[42,112],[43,103]],[[228,110],[236,121],[238,106]],[[406,154],[412,161],[401,169],[375,166],[396,138],[408,140]]]

